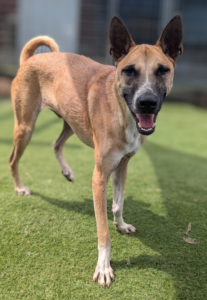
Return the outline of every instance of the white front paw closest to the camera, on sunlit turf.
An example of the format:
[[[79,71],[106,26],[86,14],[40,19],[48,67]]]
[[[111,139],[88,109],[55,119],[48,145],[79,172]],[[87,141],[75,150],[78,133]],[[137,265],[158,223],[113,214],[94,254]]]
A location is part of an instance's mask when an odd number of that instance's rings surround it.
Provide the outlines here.
[[[111,262],[110,262],[111,264]],[[98,283],[105,288],[105,286],[109,287],[114,279],[114,271],[111,266],[99,265],[97,264],[95,273],[93,275],[93,281]]]

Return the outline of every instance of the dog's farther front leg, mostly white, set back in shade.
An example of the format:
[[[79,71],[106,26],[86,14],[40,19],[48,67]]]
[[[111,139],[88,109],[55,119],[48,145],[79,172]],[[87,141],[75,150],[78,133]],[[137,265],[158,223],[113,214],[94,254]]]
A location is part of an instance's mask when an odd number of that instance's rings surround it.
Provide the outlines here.
[[[113,183],[113,205],[112,211],[114,214],[114,224],[116,230],[121,231],[123,234],[137,232],[137,229],[131,224],[124,222],[122,217],[123,204],[124,204],[124,190],[127,177],[127,164],[129,158],[123,157],[112,173]]]

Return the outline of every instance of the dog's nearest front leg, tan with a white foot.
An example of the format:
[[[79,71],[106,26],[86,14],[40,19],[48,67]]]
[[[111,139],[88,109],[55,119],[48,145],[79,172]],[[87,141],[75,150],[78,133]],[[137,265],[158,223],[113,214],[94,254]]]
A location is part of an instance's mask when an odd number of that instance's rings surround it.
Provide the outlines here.
[[[93,173],[93,198],[98,229],[98,263],[93,280],[98,280],[103,287],[109,287],[114,279],[110,266],[111,238],[107,219],[107,182],[110,173],[106,173],[100,167],[97,168],[96,164]]]

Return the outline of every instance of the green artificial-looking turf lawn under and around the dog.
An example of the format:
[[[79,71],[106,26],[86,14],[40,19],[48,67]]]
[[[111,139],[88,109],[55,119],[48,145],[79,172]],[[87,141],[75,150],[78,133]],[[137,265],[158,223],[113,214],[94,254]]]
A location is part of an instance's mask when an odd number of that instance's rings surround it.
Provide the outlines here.
[[[156,131],[131,159],[124,220],[138,228],[122,235],[113,225],[108,184],[111,259],[109,289],[93,283],[98,258],[92,199],[93,150],[72,136],[64,155],[74,184],[61,175],[51,144],[62,120],[43,110],[21,161],[18,196],[8,167],[13,111],[0,102],[0,299],[207,299],[207,112],[163,105]],[[183,241],[188,223],[190,237]],[[130,259],[130,264],[127,260]]]

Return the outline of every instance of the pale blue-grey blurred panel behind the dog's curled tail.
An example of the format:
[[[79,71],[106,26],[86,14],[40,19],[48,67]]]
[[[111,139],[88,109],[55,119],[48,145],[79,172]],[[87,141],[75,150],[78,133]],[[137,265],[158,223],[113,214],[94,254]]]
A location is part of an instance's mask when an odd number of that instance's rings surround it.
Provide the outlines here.
[[[26,42],[38,35],[54,38],[61,52],[76,53],[80,4],[80,0],[19,0],[17,57]]]

